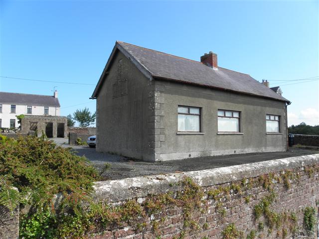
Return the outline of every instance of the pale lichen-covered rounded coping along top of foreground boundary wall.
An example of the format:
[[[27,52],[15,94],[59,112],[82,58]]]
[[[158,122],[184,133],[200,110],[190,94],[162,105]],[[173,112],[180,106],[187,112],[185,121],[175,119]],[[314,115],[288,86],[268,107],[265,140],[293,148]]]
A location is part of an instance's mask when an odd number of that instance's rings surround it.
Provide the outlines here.
[[[180,173],[125,178],[96,182],[95,200],[104,200],[110,203],[125,201],[132,198],[144,198],[148,195],[159,195],[168,191],[181,190],[171,187],[184,177],[190,177],[201,187],[208,187],[244,178],[258,177],[271,172],[279,172],[319,163],[319,154],[275,159],[257,163],[248,163]]]

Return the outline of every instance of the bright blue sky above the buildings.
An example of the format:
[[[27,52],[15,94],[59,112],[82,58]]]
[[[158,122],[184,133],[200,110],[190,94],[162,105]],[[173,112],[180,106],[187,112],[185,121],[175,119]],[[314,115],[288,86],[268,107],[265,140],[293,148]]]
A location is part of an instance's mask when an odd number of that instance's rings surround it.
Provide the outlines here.
[[[56,86],[62,115],[95,111],[89,97],[120,40],[193,60],[213,51],[221,67],[280,85],[289,124],[319,124],[319,1],[0,3],[0,76],[92,84],[0,78],[0,91],[50,95]]]

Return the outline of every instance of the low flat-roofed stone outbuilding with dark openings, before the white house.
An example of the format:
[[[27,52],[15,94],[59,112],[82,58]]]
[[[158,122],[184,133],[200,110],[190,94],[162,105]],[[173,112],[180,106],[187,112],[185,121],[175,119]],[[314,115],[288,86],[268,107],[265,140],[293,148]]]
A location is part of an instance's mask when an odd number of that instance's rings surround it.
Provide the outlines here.
[[[67,118],[64,116],[24,116],[21,120],[20,133],[31,134],[35,131],[38,136],[44,132],[48,138],[67,137]]]

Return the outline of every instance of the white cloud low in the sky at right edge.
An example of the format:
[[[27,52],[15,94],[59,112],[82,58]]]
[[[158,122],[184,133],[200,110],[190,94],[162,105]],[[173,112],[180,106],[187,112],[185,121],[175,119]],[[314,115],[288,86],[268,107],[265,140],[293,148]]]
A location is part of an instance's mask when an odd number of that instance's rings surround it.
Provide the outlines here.
[[[288,125],[305,122],[309,125],[319,125],[319,111],[313,108],[302,110],[299,115],[288,113]]]

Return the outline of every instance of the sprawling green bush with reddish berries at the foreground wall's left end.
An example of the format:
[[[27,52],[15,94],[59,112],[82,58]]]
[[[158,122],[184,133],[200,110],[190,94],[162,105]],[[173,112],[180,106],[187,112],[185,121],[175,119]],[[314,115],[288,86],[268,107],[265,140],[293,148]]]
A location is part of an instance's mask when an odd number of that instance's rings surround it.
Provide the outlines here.
[[[20,220],[20,238],[77,237],[81,203],[90,201],[98,172],[71,148],[58,147],[45,137],[0,136],[0,204],[11,210],[28,205]],[[16,189],[14,189],[16,188]],[[54,196],[61,194],[59,207]]]

